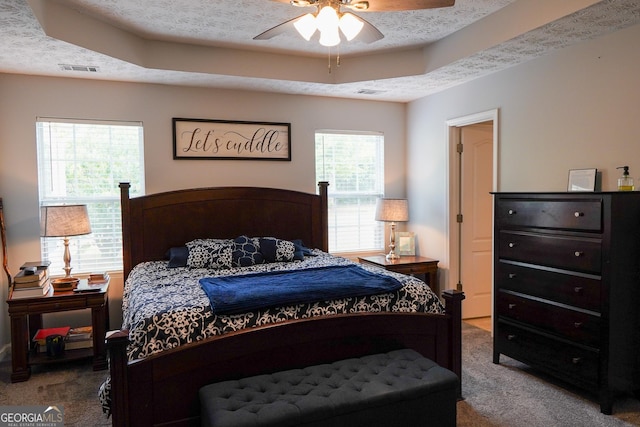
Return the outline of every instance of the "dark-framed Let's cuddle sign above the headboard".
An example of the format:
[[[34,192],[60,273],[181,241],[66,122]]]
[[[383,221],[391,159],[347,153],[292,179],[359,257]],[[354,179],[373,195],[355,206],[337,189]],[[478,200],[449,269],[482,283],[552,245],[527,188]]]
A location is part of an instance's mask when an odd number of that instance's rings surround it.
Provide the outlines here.
[[[174,118],[173,158],[291,161],[291,123]]]

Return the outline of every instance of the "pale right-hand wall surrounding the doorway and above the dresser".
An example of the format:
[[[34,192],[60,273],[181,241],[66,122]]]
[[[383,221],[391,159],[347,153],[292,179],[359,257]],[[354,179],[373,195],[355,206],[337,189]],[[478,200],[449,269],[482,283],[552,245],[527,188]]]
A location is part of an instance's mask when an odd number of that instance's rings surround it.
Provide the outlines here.
[[[628,165],[640,186],[640,26],[412,102],[407,110],[409,229],[449,279],[447,120],[499,109],[500,191],[565,191],[569,169],[602,171],[615,191]]]

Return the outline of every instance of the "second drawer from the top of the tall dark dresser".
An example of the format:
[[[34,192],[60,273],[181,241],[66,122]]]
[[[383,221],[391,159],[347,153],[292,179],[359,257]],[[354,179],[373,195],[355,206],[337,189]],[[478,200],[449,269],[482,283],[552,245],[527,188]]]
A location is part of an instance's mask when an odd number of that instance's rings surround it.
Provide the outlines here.
[[[602,245],[598,238],[500,230],[497,255],[500,259],[598,274]]]

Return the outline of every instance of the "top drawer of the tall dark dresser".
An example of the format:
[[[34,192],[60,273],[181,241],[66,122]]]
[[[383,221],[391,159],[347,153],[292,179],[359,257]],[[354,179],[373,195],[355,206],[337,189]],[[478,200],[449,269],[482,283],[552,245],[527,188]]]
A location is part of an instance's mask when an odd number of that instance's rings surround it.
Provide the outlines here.
[[[602,230],[602,202],[593,200],[500,199],[496,220],[506,227]]]

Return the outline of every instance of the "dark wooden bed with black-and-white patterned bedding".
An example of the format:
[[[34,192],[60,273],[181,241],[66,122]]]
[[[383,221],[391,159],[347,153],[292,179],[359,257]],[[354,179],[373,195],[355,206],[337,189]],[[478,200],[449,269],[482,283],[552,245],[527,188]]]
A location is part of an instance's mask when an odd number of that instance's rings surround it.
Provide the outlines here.
[[[168,250],[181,248],[197,239],[277,237],[281,241],[296,242],[306,251],[302,260],[296,259],[292,263],[298,262],[309,269],[318,265],[324,268],[325,261],[331,258],[327,254],[328,183],[321,182],[318,187],[319,194],[257,187],[220,187],[130,198],[129,184],[121,183],[123,270],[124,277],[127,277],[123,324],[137,323],[133,320],[136,314],[129,311],[138,313],[140,310],[129,310],[129,306],[140,298],[135,295],[140,294],[143,286],[153,283],[162,286],[163,291],[159,290],[160,286],[153,288],[151,285],[141,292],[147,295],[157,292],[158,297],[149,300],[155,299],[161,306],[166,304],[171,294],[182,295],[185,304],[198,300],[199,297],[185,298],[183,288],[165,289],[169,282],[175,282],[167,279],[168,274],[176,271],[186,274],[183,266],[168,272],[165,267]],[[340,258],[330,262],[348,268],[356,265]],[[286,262],[275,262],[247,268],[244,274],[255,274],[264,269],[279,274],[280,270],[288,267]],[[364,269],[363,266],[357,268]],[[368,270],[375,269],[369,267]],[[199,274],[226,276],[226,273],[217,271]],[[401,290],[396,291],[398,294],[413,292],[405,292],[406,289],[429,288],[410,276],[392,272],[384,274],[402,282]],[[136,281],[136,277],[146,279]],[[146,285],[143,285],[145,281]],[[264,311],[249,316],[246,313],[211,315],[207,312],[203,317],[215,318],[216,321],[222,318],[227,326],[233,324],[233,327],[210,326],[209,331],[217,332],[200,333],[196,338],[188,335],[191,338],[183,340],[172,338],[170,343],[166,342],[167,337],[156,334],[153,340],[142,339],[146,343],[144,349],[135,344],[137,337],[141,336],[140,331],[133,328],[111,331],[107,335],[107,348],[112,424],[199,425],[197,393],[203,385],[399,348],[412,348],[460,377],[462,292],[445,291],[442,295],[444,305],[438,301],[440,310],[433,308],[435,305],[431,300],[438,300],[432,298],[433,295],[419,297],[424,300],[424,307],[418,311],[404,308],[386,311],[375,300],[378,297],[361,297],[365,298],[366,304],[346,298],[345,301],[352,301],[351,305],[345,308],[349,304],[338,304],[340,309],[335,308],[337,305],[327,309],[326,306],[304,303],[296,304],[295,310],[272,307],[271,310],[277,313],[268,315]],[[386,301],[388,298],[382,299]],[[371,303],[372,300],[375,303]],[[402,306],[402,303],[398,304]],[[354,310],[354,305],[373,307],[373,311]],[[208,310],[211,311],[210,308]],[[251,322],[247,321],[248,317]],[[190,322],[183,323],[182,329],[190,329]],[[237,327],[238,324],[243,327]],[[145,325],[143,329],[150,327],[150,323]]]

